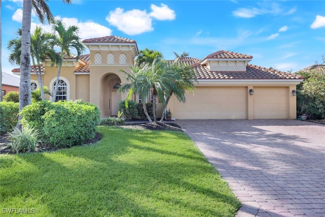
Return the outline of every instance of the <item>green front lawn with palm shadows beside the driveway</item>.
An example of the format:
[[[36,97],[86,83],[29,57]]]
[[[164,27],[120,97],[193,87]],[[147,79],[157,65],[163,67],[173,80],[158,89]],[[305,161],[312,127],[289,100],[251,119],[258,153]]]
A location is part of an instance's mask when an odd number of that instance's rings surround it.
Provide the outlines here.
[[[99,127],[100,142],[0,155],[1,213],[28,216],[234,216],[226,182],[182,132]],[[7,214],[7,215],[6,215]]]

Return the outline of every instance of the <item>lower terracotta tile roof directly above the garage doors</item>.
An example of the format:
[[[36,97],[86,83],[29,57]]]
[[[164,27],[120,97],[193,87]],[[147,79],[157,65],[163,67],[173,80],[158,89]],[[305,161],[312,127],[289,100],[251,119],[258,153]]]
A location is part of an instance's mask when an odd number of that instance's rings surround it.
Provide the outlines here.
[[[226,80],[239,80],[239,79],[302,79],[302,76],[296,74],[290,74],[280,72],[274,69],[267,69],[255,65],[248,64],[246,71],[244,72],[221,72],[210,71],[205,65],[195,64],[193,65],[197,74],[197,79],[226,79]]]

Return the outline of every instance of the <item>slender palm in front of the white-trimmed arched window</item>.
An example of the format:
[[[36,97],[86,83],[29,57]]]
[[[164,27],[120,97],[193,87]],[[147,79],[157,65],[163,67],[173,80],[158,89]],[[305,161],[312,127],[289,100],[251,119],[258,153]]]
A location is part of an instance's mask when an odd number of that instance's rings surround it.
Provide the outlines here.
[[[59,47],[60,49],[60,63],[59,68],[57,70],[57,77],[55,82],[55,89],[53,92],[53,99],[56,100],[56,94],[58,89],[58,83],[60,78],[63,54],[66,53],[67,58],[70,57],[71,52],[70,49],[74,48],[77,50],[77,60],[82,52],[85,50],[85,46],[82,44],[80,37],[78,36],[79,27],[75,25],[71,25],[68,28],[62,23],[62,21],[57,20],[54,22],[52,29],[55,33],[57,33],[58,37],[54,41],[54,45]]]

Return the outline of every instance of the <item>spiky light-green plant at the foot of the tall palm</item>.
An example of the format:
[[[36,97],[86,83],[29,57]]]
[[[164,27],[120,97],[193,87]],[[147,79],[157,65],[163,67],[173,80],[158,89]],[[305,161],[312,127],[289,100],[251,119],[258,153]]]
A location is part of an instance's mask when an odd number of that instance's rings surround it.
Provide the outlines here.
[[[42,142],[39,131],[34,128],[23,127],[21,131],[15,128],[8,135],[10,142],[2,148],[11,147],[16,153],[35,151],[36,145]]]

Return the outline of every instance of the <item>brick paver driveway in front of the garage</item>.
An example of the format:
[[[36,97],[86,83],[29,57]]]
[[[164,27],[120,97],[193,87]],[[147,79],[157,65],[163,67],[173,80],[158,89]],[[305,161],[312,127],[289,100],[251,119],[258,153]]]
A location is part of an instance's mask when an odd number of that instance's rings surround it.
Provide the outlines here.
[[[301,120],[177,120],[228,181],[236,216],[325,216],[325,125]]]

